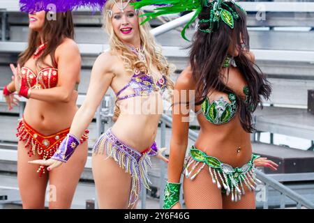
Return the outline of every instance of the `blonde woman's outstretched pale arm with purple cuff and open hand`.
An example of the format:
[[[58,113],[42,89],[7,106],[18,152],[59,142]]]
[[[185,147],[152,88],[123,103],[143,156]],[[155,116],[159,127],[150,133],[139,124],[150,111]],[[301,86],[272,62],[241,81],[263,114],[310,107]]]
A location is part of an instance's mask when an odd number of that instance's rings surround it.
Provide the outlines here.
[[[61,145],[49,160],[34,160],[29,163],[49,166],[48,171],[59,167],[62,162],[66,162],[75,151],[75,148],[80,144],[80,137],[88,128],[92,118],[100,105],[103,96],[109,88],[114,72],[112,72],[112,64],[114,59],[108,53],[101,54],[96,59],[93,69],[91,70],[91,80],[89,89],[83,105],[75,114],[70,133],[63,139]]]

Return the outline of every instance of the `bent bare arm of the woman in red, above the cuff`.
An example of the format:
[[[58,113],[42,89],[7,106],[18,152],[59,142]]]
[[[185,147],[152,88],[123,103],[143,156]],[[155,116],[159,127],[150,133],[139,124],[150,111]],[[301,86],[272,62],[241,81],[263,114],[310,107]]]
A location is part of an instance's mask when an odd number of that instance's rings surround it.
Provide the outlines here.
[[[65,40],[56,49],[58,85],[52,89],[31,89],[30,97],[45,102],[69,102],[81,70],[81,56],[73,40]]]

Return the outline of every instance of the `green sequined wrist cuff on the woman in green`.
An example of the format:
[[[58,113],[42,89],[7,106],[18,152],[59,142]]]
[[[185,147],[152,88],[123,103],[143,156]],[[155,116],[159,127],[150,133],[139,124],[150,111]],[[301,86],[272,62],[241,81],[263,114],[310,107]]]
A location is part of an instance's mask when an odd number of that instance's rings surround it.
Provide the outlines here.
[[[163,209],[170,209],[179,202],[181,183],[169,183],[165,186]]]

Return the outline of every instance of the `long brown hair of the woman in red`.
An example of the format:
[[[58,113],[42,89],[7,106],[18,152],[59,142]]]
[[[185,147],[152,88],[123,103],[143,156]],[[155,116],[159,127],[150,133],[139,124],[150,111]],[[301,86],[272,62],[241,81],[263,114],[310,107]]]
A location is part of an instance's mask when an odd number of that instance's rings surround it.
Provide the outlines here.
[[[47,48],[44,50],[43,54],[36,61],[36,66],[40,64],[45,64],[46,66],[53,66],[57,68],[57,63],[54,59],[54,52],[57,47],[62,43],[63,38],[74,38],[74,24],[73,16],[70,11],[66,13],[56,13],[57,20],[47,20],[47,12],[45,13],[45,23],[43,25],[43,40],[47,43]],[[19,55],[18,63],[21,66],[33,56],[36,51],[36,47],[40,45],[40,36],[38,31],[31,30],[29,33],[29,43],[27,49]],[[52,64],[46,64],[43,62],[45,57],[50,55],[52,59]]]

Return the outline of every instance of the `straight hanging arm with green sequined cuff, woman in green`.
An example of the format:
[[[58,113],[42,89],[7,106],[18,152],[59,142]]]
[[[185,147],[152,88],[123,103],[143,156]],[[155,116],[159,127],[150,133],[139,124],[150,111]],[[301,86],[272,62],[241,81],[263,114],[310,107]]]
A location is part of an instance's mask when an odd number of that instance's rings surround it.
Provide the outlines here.
[[[189,91],[193,89],[191,84],[191,71],[186,68],[178,77],[174,86],[174,98],[172,106],[172,138],[170,141],[170,157],[168,163],[168,179],[165,188],[164,208],[181,208],[179,204],[180,178],[184,168],[184,157],[188,146],[188,127],[190,107],[186,102]],[[172,194],[172,195],[171,195]]]

